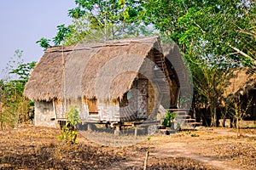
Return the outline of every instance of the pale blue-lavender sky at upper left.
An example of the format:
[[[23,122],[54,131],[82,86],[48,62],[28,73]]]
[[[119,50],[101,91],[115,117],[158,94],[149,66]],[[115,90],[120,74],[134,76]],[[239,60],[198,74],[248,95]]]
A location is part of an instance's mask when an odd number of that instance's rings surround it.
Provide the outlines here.
[[[74,0],[8,0],[0,6],[0,78],[3,69],[14,56],[23,51],[25,62],[38,61],[44,54],[36,43],[41,37],[51,39],[56,26],[71,24],[68,9],[76,7]]]

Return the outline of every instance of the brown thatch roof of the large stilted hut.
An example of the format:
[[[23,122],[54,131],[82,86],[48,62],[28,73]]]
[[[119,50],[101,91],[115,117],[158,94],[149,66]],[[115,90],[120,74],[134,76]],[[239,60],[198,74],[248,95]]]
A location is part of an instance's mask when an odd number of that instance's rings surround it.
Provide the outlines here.
[[[158,37],[48,48],[32,71],[24,95],[46,101],[64,99],[64,95],[66,99],[118,99],[131,88],[152,49],[160,50]]]

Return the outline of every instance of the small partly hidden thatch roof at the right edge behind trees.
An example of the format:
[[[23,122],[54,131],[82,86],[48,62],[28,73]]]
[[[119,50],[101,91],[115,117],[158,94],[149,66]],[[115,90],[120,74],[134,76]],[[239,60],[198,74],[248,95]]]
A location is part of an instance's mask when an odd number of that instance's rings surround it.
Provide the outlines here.
[[[256,69],[247,67],[237,68],[233,71],[230,84],[224,90],[224,96],[246,94],[247,90],[251,88],[256,88]]]

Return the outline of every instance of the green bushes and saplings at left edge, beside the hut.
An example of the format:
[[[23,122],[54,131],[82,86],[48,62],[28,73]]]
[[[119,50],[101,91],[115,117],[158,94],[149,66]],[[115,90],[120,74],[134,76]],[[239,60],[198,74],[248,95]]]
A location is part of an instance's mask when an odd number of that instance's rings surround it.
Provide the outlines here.
[[[16,50],[9,61],[9,77],[1,83],[1,126],[15,127],[18,123],[29,122],[33,117],[33,102],[23,96],[25,84],[36,62],[24,63],[22,51]]]

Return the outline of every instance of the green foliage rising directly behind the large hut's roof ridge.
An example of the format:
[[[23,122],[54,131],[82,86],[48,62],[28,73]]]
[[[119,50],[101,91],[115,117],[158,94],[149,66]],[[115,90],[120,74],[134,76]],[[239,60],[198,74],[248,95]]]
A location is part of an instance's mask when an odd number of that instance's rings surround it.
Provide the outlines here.
[[[77,7],[68,10],[73,24],[57,26],[57,34],[53,38],[55,45],[102,42],[154,33],[139,17],[143,10],[141,1],[75,0],[75,3]],[[43,48],[49,47],[49,39],[41,38],[38,43]]]

